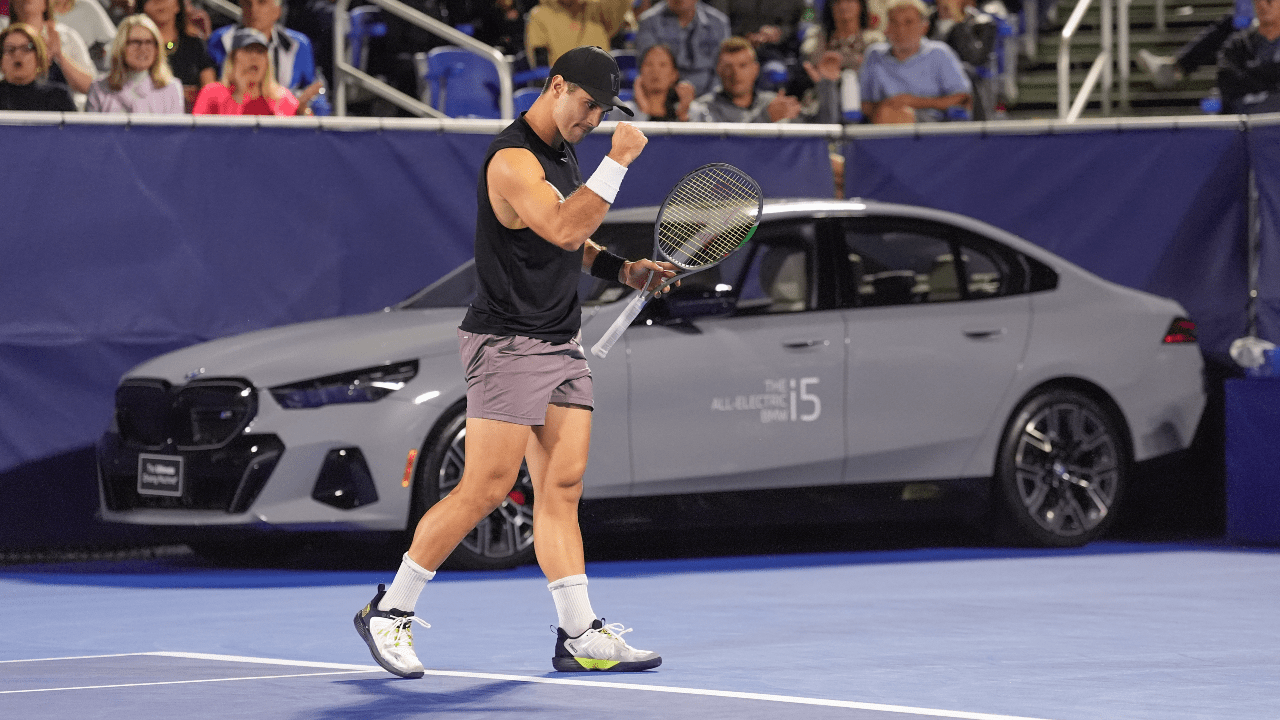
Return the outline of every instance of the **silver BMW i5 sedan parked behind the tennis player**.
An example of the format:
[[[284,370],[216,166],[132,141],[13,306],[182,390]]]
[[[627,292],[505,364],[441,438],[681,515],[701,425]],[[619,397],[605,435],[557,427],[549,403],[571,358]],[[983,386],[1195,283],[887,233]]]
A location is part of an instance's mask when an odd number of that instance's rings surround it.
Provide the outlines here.
[[[655,214],[611,213],[595,240],[646,255]],[[99,443],[104,519],[210,553],[268,529],[411,529],[466,461],[456,328],[474,288],[467,264],[381,313],[134,368]],[[628,292],[582,277],[585,346]],[[845,491],[910,505],[977,488],[993,532],[1042,546],[1103,533],[1133,462],[1185,448],[1204,406],[1172,300],[972,218],[859,200],[767,201],[745,250],[650,302],[591,366],[585,501],[732,497],[783,521],[810,516],[788,497],[829,515]],[[532,502],[522,474],[452,561],[530,561]]]

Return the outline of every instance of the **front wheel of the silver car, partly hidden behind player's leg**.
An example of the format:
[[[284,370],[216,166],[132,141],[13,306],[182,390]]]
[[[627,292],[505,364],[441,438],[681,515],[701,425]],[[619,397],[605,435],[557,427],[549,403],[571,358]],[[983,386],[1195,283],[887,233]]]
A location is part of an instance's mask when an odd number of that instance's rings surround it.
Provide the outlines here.
[[[467,413],[462,406],[451,411],[440,432],[428,439],[415,477],[417,518],[462,479],[466,434]],[[534,483],[529,469],[521,464],[516,484],[502,505],[462,538],[445,564],[456,569],[497,570],[534,560]]]

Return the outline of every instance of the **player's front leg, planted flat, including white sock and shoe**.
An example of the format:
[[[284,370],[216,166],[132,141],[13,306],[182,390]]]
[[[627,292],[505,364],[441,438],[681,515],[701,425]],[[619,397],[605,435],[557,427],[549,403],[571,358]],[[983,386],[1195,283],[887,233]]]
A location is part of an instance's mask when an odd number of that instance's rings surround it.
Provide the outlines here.
[[[628,630],[596,619],[586,593],[577,506],[590,443],[590,409],[553,404],[525,451],[534,483],[534,548],[559,620],[552,665],[562,671],[648,670],[662,657],[623,642],[620,635]]]

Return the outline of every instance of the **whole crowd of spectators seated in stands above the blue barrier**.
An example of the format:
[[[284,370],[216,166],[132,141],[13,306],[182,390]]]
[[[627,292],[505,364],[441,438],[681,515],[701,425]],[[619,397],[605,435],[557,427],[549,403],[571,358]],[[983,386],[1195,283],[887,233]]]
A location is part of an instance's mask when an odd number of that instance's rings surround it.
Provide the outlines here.
[[[334,0],[238,0],[238,22],[211,14],[201,1],[0,0],[0,27],[15,28],[5,35],[12,47],[5,47],[0,109],[63,108],[64,94],[73,109],[90,111],[323,108],[323,99],[312,101],[333,74]],[[996,90],[982,78],[995,65],[996,22],[1007,19],[1006,8],[1020,6],[1016,0],[404,1],[500,49],[516,70],[548,68],[580,45],[613,50],[632,73],[623,97],[640,118],[741,123],[988,119]],[[1139,63],[1157,85],[1170,86],[1216,59],[1229,111],[1275,106],[1280,0],[1253,5],[1252,26],[1224,18],[1178,58],[1142,53]],[[420,95],[415,54],[448,42],[389,13],[379,22],[385,32],[367,38],[366,72]]]

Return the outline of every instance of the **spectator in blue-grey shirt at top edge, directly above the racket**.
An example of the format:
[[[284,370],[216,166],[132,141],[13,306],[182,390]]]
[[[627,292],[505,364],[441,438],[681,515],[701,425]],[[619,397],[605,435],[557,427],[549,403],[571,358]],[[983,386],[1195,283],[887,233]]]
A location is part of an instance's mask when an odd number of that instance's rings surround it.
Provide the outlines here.
[[[667,0],[640,14],[636,53],[644,55],[657,44],[672,50],[681,79],[698,95],[716,87],[716,58],[721,42],[730,38],[728,18],[701,0]]]

